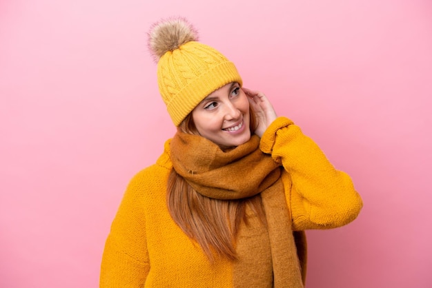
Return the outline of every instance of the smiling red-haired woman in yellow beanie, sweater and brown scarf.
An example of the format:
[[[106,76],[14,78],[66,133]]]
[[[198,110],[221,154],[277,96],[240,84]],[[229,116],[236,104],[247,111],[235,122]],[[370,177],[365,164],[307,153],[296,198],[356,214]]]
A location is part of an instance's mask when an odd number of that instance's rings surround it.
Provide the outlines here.
[[[149,45],[177,133],[132,178],[100,286],[304,287],[304,230],[357,217],[351,178],[184,19],[155,24]]]

